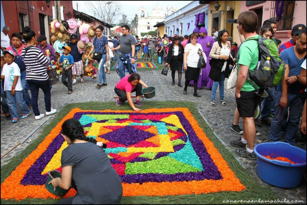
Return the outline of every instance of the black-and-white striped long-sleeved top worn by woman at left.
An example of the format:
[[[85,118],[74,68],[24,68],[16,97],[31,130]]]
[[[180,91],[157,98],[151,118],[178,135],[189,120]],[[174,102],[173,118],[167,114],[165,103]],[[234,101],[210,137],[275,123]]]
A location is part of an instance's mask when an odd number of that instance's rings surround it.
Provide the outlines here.
[[[44,56],[44,53],[35,47],[22,49],[21,58],[25,61],[26,80],[47,80],[46,65],[50,64],[50,57]]]

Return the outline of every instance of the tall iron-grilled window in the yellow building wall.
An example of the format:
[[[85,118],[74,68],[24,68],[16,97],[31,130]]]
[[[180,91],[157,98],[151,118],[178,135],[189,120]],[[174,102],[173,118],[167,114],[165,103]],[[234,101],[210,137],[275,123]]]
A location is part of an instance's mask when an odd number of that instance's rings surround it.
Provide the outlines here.
[[[224,3],[224,20],[223,29],[226,29],[229,33],[228,40],[233,39],[233,24],[227,23],[227,19],[233,19],[235,13],[235,1],[225,1]]]

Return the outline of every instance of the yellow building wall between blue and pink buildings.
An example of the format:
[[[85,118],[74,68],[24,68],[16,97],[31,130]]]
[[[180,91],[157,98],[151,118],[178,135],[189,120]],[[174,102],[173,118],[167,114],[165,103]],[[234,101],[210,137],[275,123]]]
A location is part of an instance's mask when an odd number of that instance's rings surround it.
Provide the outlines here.
[[[219,11],[223,11],[224,10],[224,2],[225,1],[218,1],[219,4],[221,5]],[[243,3],[245,3],[245,1],[242,1]],[[213,32],[213,28],[212,28],[212,14],[216,13],[216,10],[214,8],[215,5],[215,1],[212,1],[209,3],[209,21],[208,21],[208,35],[211,36],[211,33]],[[240,14],[240,10],[241,10],[241,1],[234,1],[235,6],[234,6],[234,18],[238,17]],[[212,14],[210,14],[210,10],[212,10]],[[224,28],[224,18],[226,18],[226,11],[223,12],[223,14],[221,14],[221,18],[220,18],[220,28],[217,28],[218,31],[223,30]],[[227,20],[227,19],[226,19]],[[239,32],[237,29],[237,24],[232,24],[232,36],[233,36],[233,42],[237,42],[238,44],[240,44],[239,40]]]

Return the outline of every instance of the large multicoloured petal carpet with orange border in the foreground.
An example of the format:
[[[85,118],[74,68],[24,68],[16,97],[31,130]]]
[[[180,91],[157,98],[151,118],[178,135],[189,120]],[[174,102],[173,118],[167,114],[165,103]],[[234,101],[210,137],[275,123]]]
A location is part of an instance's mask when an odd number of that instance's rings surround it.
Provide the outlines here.
[[[71,110],[1,184],[2,199],[58,198],[45,189],[48,171],[61,171],[68,144],[61,125],[76,118],[105,152],[122,180],[123,195],[179,195],[245,188],[188,108]],[[71,189],[65,197],[75,195]]]

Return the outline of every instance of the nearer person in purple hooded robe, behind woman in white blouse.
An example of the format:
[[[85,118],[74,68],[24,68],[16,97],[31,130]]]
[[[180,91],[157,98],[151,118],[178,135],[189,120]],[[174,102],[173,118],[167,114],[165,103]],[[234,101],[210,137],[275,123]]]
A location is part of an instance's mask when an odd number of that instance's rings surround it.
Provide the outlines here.
[[[201,27],[199,29],[199,37],[197,38],[197,43],[199,43],[202,46],[203,51],[207,57],[206,68],[202,68],[203,71],[202,74],[199,75],[197,89],[199,90],[201,87],[212,88],[213,80],[209,78],[209,72],[211,68],[209,65],[209,62],[211,60],[211,58],[209,57],[209,53],[213,46],[214,39],[211,36],[208,36],[207,29],[205,29],[204,27]]]

